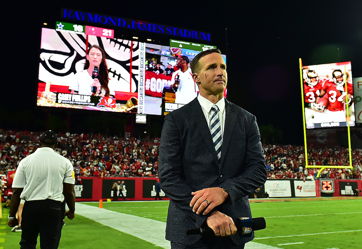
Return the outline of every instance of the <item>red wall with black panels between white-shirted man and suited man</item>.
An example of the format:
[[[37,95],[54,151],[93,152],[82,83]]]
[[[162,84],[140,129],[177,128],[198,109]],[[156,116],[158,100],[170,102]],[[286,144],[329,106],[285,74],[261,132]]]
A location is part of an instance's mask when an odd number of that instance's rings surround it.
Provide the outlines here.
[[[125,181],[123,195],[129,201],[151,201],[155,199],[155,177],[81,177],[75,185],[76,201],[99,201],[113,199],[113,181]],[[119,192],[117,192],[118,194]],[[162,199],[169,200],[161,191]],[[120,198],[122,200],[122,197]]]

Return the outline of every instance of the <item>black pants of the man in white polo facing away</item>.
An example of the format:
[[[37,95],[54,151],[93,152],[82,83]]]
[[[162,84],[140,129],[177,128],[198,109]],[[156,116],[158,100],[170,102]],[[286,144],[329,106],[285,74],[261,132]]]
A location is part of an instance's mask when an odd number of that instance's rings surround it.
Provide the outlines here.
[[[62,202],[51,199],[26,201],[21,218],[21,249],[35,249],[39,234],[40,248],[58,248],[62,232]]]

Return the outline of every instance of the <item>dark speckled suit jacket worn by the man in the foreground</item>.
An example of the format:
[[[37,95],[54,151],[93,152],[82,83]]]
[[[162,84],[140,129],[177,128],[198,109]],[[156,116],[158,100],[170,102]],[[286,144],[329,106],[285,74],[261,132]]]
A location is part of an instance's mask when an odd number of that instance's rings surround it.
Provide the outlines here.
[[[251,217],[248,194],[266,181],[266,166],[255,116],[225,100],[225,125],[220,164],[209,126],[197,98],[165,117],[159,153],[161,189],[170,198],[166,239],[192,245],[201,236],[186,236],[208,215],[197,215],[190,207],[191,192],[220,186],[229,193],[217,206],[232,217]],[[232,240],[241,245],[254,238]]]

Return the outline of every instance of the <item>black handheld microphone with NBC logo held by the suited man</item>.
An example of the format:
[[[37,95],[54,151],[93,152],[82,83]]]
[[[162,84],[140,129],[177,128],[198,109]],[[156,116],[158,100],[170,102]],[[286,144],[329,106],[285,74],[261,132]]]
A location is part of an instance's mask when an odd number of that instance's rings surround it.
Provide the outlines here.
[[[253,231],[262,230],[266,228],[266,222],[264,217],[257,218],[234,218],[233,219],[237,231],[239,231],[239,237],[251,237]],[[209,226],[202,226],[200,228],[189,229],[186,231],[186,235],[215,235],[214,231]]]

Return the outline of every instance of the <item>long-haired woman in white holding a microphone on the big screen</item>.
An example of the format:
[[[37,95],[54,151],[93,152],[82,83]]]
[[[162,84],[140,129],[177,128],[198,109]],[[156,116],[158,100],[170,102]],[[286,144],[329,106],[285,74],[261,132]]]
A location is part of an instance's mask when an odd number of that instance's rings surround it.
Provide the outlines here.
[[[94,70],[95,67],[98,68],[98,72],[97,68]],[[74,75],[69,90],[73,94],[114,97],[115,93],[109,89],[108,82],[105,52],[100,46],[93,45],[85,56],[84,70]]]

